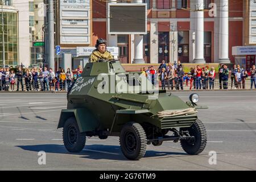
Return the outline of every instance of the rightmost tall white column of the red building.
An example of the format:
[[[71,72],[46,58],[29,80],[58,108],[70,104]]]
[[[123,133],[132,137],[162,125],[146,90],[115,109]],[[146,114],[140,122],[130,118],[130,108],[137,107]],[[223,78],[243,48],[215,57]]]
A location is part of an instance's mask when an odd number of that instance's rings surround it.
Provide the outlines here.
[[[229,60],[229,1],[220,1],[220,63],[230,63]]]

